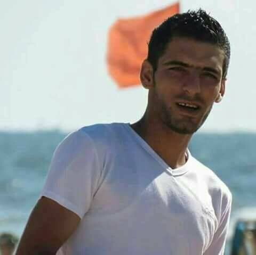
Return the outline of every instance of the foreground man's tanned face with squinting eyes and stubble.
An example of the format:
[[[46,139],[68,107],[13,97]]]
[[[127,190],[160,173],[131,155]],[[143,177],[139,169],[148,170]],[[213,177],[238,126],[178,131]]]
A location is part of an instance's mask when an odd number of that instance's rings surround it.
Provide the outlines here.
[[[173,131],[194,133],[225,92],[223,60],[218,46],[173,38],[159,58],[154,75],[150,64],[144,70],[142,67],[141,77],[145,72],[149,80],[149,109]]]

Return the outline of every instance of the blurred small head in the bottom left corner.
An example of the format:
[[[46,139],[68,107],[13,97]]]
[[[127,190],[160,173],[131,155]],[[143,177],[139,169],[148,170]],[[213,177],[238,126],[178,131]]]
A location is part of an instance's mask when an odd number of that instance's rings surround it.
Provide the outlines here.
[[[0,235],[0,254],[12,255],[15,246],[18,243],[18,238],[9,233],[3,233]]]

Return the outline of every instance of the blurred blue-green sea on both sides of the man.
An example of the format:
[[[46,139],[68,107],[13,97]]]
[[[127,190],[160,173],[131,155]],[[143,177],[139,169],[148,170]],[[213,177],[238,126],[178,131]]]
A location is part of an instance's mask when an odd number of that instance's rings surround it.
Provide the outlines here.
[[[0,131],[0,233],[21,236],[63,131]],[[226,254],[239,219],[256,219],[256,133],[197,133],[189,149],[233,194]],[[43,216],[42,216],[43,217]]]

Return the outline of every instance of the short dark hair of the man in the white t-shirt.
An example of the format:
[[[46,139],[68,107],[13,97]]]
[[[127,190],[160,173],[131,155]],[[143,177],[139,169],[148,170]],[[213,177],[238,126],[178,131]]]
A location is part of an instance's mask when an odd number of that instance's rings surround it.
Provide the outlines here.
[[[157,69],[157,62],[173,37],[186,37],[220,47],[225,54],[222,78],[226,78],[230,59],[230,43],[220,23],[204,10],[175,14],[156,27],[148,43],[147,60]]]

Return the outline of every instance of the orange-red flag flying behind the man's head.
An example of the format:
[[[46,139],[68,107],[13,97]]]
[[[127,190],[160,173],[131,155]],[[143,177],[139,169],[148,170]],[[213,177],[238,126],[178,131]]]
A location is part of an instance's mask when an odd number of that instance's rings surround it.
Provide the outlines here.
[[[107,64],[118,87],[140,84],[140,67],[147,57],[151,32],[168,17],[179,13],[179,3],[145,16],[119,19],[109,31]]]

